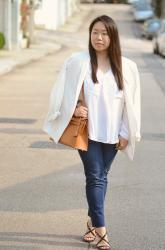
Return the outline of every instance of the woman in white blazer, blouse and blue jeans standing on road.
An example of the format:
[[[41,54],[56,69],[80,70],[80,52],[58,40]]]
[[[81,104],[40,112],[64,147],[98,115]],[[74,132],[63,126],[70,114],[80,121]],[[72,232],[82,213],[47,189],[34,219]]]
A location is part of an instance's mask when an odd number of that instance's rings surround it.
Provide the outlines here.
[[[84,83],[84,84],[83,84]],[[86,107],[79,100],[82,86]],[[140,82],[136,64],[121,56],[118,30],[109,16],[89,27],[89,52],[73,54],[58,76],[44,131],[58,143],[71,117],[88,119],[88,150],[78,150],[86,177],[86,242],[110,249],[104,218],[107,174],[118,150],[132,160],[140,140]]]

